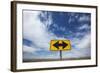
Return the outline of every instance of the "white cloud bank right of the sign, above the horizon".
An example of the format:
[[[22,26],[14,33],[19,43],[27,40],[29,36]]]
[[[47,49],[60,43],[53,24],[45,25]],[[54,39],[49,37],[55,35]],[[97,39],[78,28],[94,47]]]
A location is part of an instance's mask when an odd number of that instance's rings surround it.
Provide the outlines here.
[[[91,56],[91,35],[85,34],[82,39],[73,38],[71,44],[74,45],[71,51],[64,53],[64,58],[79,58]]]

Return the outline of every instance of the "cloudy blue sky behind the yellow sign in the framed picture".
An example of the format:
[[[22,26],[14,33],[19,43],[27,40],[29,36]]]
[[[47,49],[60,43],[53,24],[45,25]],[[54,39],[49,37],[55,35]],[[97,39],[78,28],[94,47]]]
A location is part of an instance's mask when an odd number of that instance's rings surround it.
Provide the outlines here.
[[[56,11],[23,11],[23,59],[55,59],[50,41],[68,39],[72,50],[63,58],[91,56],[91,14]]]

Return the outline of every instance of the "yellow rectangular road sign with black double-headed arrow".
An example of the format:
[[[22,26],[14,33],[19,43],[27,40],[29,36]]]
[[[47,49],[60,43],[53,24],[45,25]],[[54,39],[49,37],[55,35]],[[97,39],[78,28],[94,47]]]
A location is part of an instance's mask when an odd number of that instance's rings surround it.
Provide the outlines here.
[[[71,50],[70,40],[51,40],[50,42],[51,51],[67,51]]]

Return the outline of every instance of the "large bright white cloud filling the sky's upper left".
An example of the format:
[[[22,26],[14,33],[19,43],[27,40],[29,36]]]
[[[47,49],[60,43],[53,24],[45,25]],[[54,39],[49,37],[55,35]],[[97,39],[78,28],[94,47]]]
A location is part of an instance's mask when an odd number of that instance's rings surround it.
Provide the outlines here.
[[[36,46],[47,49],[55,36],[47,32],[46,26],[39,20],[40,11],[24,11],[23,37],[31,40]]]

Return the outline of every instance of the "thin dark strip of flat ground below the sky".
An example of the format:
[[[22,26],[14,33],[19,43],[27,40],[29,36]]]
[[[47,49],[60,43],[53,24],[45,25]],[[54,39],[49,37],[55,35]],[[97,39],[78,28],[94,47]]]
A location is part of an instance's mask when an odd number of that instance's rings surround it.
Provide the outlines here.
[[[83,57],[83,58],[67,58],[67,59],[25,59],[23,62],[45,62],[45,61],[64,61],[64,60],[85,60],[91,59],[90,57]]]

